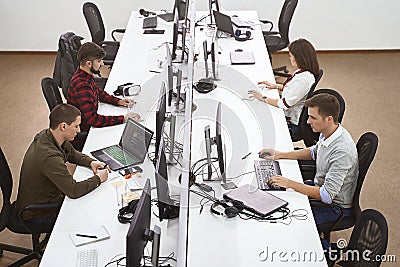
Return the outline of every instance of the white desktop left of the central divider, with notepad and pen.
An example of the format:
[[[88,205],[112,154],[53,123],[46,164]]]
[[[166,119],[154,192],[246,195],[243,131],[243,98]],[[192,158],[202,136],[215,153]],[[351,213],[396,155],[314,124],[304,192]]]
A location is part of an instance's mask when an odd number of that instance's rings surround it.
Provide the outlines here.
[[[163,42],[170,41],[172,24],[159,20],[159,28],[165,29],[165,34],[142,35],[142,19],[139,19],[137,14],[138,12],[133,12],[129,20],[126,33],[107,82],[106,91],[112,93],[119,84],[125,82],[141,84],[141,94],[134,97],[138,102],[135,106],[135,111],[140,113],[143,119],[145,119],[143,122],[144,125],[154,130],[154,108],[163,75],[157,75],[156,73],[149,72],[149,70],[163,71],[163,69],[158,68],[157,60],[165,60],[165,47],[162,46],[155,50],[152,48],[156,48],[157,45]],[[138,23],[140,23],[140,27],[137,27]],[[123,115],[126,113],[126,108],[101,104],[99,113]],[[83,152],[90,155],[90,151],[118,143],[123,128],[124,125],[92,128]],[[150,147],[150,150],[154,150],[154,147]],[[143,187],[146,178],[151,178],[151,185],[155,186],[152,163],[146,159],[145,163],[141,166],[143,168],[142,177],[136,178],[138,187]],[[78,167],[74,178],[79,181],[91,175],[93,175],[91,170]],[[115,174],[111,174],[111,176],[115,176]],[[120,177],[117,179],[122,180],[123,178]],[[121,191],[123,191],[123,188],[120,188],[118,193]],[[153,190],[152,195],[156,197],[155,190]],[[40,266],[75,266],[78,249],[96,248],[98,250],[98,266],[104,266],[114,256],[125,256],[126,234],[129,224],[118,222],[117,214],[119,208],[116,189],[111,185],[110,181],[103,183],[99,188],[79,199],[69,199],[66,197]],[[156,207],[153,207],[153,209],[156,211]],[[152,216],[151,225],[155,223],[162,230],[161,255],[167,256],[174,251],[176,257],[178,220],[163,221],[160,223],[155,216]],[[110,232],[110,239],[80,248],[76,248],[73,245],[68,235],[70,232],[77,229],[87,229],[91,225],[101,224],[104,224]],[[145,255],[149,255],[147,251],[145,251]]]

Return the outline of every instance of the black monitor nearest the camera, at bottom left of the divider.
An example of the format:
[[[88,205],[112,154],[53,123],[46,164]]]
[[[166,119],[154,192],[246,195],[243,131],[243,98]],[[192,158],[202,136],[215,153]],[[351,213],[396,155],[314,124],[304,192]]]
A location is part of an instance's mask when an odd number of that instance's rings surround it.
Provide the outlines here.
[[[126,235],[126,266],[140,266],[143,258],[144,248],[148,238],[145,233],[149,232],[151,219],[151,192],[150,180],[146,181],[142,195],[137,203],[132,221]]]

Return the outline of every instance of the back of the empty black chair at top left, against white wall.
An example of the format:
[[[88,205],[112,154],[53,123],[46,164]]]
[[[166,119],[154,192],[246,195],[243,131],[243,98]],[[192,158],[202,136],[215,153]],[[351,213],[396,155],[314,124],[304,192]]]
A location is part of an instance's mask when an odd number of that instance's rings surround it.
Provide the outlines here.
[[[86,2],[83,4],[83,15],[89,26],[92,41],[99,44],[104,41],[105,29],[103,19],[97,6],[93,3]]]

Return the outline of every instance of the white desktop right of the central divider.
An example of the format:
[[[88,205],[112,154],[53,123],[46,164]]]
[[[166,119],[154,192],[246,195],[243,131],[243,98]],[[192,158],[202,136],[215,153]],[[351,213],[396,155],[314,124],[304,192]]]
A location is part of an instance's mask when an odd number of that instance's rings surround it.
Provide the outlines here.
[[[233,12],[227,13],[233,14]],[[257,18],[256,12],[234,13],[242,20]],[[216,103],[221,101],[223,138],[228,154],[226,171],[228,177],[254,170],[253,160],[258,158],[257,152],[262,148],[293,149],[282,110],[257,100],[241,99],[243,91],[254,88],[254,83],[257,81],[274,81],[260,27],[254,26],[254,28],[252,40],[246,42],[237,42],[233,38],[218,40],[222,50],[220,63],[228,66],[221,67],[221,81],[217,81],[217,89],[206,95],[194,92],[193,101],[198,104],[199,109],[193,113],[192,163],[205,156],[202,154],[204,149],[196,150],[196,147],[204,147],[204,125],[211,124],[211,135],[215,135],[213,130],[215,123],[212,121],[215,118]],[[202,40],[198,34],[196,40],[197,42]],[[200,45],[199,43],[197,45]],[[229,52],[238,48],[252,51],[256,64],[231,66]],[[252,83],[249,83],[246,77]],[[278,96],[276,90],[268,90],[265,94],[271,97]],[[213,150],[216,150],[215,147]],[[242,160],[242,156],[248,152],[252,154],[246,160]],[[302,181],[297,161],[280,160],[280,165],[283,176]],[[233,181],[238,185],[249,183],[256,185],[254,173]],[[210,184],[216,190],[216,195],[221,197],[224,190],[219,183]],[[307,197],[292,190],[271,193],[288,201],[288,208],[291,211],[305,209],[308,212],[307,220],[292,219],[290,225],[284,225],[254,220],[244,221],[238,217],[228,219],[212,214],[209,205],[206,205],[200,214],[201,197],[191,194],[187,242],[188,266],[204,266],[204,264],[264,266],[267,263],[273,266],[326,266]],[[311,259],[309,259],[310,254]],[[298,255],[300,259],[297,259]]]

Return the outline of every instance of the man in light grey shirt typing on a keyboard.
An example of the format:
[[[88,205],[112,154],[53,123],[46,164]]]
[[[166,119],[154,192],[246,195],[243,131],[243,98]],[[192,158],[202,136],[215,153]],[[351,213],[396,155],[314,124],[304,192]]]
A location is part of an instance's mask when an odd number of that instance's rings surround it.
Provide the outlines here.
[[[335,203],[344,208],[344,216],[351,214],[353,195],[358,177],[358,154],[350,134],[338,123],[339,101],[330,94],[317,94],[305,102],[308,120],[314,132],[320,132],[316,145],[301,150],[281,152],[263,149],[265,159],[315,160],[314,181],[298,183],[282,176],[273,176],[269,184],[292,188],[324,203]],[[314,207],[317,225],[334,222],[340,216],[339,207]]]

